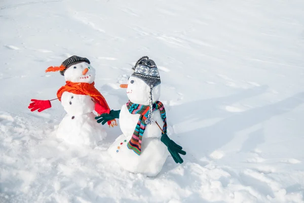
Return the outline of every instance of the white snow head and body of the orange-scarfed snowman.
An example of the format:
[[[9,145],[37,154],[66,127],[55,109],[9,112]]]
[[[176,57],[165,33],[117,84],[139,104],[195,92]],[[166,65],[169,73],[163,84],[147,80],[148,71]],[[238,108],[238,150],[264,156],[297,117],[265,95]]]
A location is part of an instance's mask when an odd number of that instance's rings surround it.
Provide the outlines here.
[[[86,68],[88,70],[84,71]],[[91,84],[95,79],[95,69],[90,64],[82,62],[69,67],[64,76],[73,83]],[[96,146],[98,141],[106,137],[106,132],[96,123],[92,112],[95,102],[89,95],[64,92],[61,104],[67,114],[57,129],[58,138],[73,145]]]

